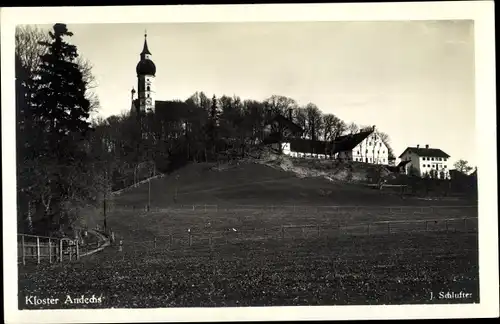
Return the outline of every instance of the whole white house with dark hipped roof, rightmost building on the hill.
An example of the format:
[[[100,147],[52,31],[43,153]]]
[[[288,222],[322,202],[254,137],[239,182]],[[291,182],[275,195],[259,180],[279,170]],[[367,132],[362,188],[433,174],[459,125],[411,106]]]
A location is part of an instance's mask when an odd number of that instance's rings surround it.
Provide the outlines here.
[[[425,148],[417,145],[406,148],[399,158],[401,159],[399,166],[403,167],[408,175],[450,179],[450,156],[440,149],[429,148],[429,145],[425,145]]]

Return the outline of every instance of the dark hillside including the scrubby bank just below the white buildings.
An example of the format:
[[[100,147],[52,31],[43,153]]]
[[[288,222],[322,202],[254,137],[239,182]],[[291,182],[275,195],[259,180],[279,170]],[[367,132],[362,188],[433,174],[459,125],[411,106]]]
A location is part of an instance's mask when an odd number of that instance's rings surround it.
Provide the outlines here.
[[[334,163],[286,157],[227,164],[191,163],[115,195],[113,204],[138,209],[144,208],[148,200],[152,208],[180,204],[428,204],[424,200],[403,196],[398,190],[377,190],[366,186],[363,182],[370,171],[367,166]]]

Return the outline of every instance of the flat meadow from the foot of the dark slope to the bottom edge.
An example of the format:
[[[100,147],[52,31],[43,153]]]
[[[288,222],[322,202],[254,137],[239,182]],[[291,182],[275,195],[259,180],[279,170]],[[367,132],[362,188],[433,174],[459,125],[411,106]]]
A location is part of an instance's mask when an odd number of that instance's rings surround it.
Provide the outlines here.
[[[475,213],[463,207],[116,212],[108,220],[116,233],[111,247],[37,272],[21,267],[20,305],[27,295],[68,291],[102,295],[102,304],[79,307],[104,308],[478,302]],[[389,232],[384,221],[391,221]],[[283,231],[292,224],[298,226]],[[372,224],[369,232],[364,224]],[[431,301],[431,292],[440,291],[472,297]]]

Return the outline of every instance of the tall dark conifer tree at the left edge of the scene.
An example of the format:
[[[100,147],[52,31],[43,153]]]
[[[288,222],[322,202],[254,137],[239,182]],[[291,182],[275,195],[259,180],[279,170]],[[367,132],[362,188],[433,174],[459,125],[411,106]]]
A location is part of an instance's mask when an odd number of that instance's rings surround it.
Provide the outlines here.
[[[69,210],[92,195],[84,141],[90,130],[90,102],[76,62],[77,48],[63,40],[72,35],[64,24],[53,26],[51,41],[40,43],[47,52],[34,78],[31,118],[43,140],[32,150],[33,187],[38,197],[37,215],[43,223],[39,229],[44,232],[70,224],[75,215]]]

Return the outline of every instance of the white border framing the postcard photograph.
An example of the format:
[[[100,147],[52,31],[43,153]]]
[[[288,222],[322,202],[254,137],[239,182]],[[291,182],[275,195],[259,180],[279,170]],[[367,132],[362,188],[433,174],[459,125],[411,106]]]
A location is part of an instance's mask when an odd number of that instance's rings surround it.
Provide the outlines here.
[[[480,303],[411,306],[300,306],[18,310],[14,31],[18,24],[279,21],[474,21]],[[31,7],[1,9],[4,309],[7,323],[212,322],[481,318],[499,315],[495,26],[493,1]]]

